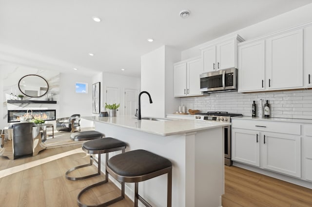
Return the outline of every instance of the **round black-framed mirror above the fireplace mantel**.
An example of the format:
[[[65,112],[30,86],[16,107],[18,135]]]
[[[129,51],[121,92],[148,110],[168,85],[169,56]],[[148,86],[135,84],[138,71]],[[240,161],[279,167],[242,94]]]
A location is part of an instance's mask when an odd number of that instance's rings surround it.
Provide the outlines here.
[[[39,75],[26,75],[19,81],[20,91],[29,97],[40,97],[48,92],[48,82]]]

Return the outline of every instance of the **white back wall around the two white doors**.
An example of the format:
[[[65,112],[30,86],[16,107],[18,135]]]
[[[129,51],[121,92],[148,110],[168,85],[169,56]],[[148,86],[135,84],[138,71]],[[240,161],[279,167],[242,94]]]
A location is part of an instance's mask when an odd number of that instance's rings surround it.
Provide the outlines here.
[[[124,94],[125,89],[134,89],[140,91],[140,83],[141,79],[137,77],[125,76],[125,75],[117,75],[113,73],[103,73],[103,101],[101,111],[105,110],[105,102],[106,102],[106,87],[117,87],[119,88],[119,115],[124,114]]]

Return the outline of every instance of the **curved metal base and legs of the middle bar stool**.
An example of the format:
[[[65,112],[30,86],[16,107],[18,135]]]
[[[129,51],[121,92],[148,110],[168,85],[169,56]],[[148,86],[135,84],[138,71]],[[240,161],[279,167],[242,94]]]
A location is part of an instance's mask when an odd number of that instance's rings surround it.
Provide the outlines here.
[[[111,152],[113,152],[113,151],[111,151]],[[125,152],[125,147],[122,147],[122,153],[124,153],[124,152]],[[99,154],[98,156],[100,157],[100,154]],[[100,163],[100,158],[98,159],[98,162]],[[105,160],[105,162],[106,162],[106,164],[107,164],[107,162],[108,162],[108,154],[106,154],[106,160]],[[89,165],[89,164],[87,164],[87,165]],[[99,165],[100,165],[100,164],[98,164],[98,166],[99,166]],[[79,166],[79,167],[80,167],[80,166]],[[107,201],[107,202],[105,202],[105,203],[97,204],[97,205],[86,205],[86,204],[81,203],[80,197],[81,197],[81,195],[82,195],[84,192],[86,192],[87,190],[90,190],[90,189],[92,189],[92,188],[94,188],[94,187],[96,187],[96,186],[100,186],[100,185],[102,185],[102,184],[105,184],[105,183],[108,183],[108,172],[107,172],[107,171],[105,171],[105,180],[100,181],[100,182],[95,183],[95,184],[92,184],[92,185],[90,185],[90,186],[88,186],[88,187],[82,189],[82,190],[78,193],[78,196],[77,196],[77,203],[78,203],[78,206],[79,206],[79,207],[107,207],[107,206],[112,205],[112,204],[114,204],[114,203],[116,203],[116,202],[118,202],[118,201],[121,201],[121,200],[123,200],[123,199],[125,198],[125,183],[124,183],[124,182],[121,182],[121,195],[120,195],[119,197],[114,198],[114,199],[112,199],[112,200],[110,200],[110,201]]]

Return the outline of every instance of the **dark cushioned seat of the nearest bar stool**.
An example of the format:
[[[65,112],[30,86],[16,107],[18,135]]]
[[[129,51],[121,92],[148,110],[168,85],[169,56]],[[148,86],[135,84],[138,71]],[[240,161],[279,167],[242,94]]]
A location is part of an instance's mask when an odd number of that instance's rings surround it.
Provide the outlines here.
[[[111,157],[107,166],[118,175],[133,177],[172,167],[172,163],[146,150],[133,150]]]

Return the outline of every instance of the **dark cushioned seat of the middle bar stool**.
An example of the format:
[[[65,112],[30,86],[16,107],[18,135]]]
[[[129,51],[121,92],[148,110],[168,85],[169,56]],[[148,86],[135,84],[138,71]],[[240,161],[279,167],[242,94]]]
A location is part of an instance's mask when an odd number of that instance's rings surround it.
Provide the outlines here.
[[[107,150],[123,146],[127,146],[127,144],[116,138],[99,138],[84,142],[82,144],[82,148],[90,151]]]

